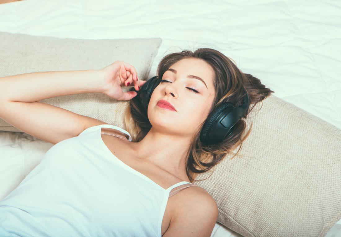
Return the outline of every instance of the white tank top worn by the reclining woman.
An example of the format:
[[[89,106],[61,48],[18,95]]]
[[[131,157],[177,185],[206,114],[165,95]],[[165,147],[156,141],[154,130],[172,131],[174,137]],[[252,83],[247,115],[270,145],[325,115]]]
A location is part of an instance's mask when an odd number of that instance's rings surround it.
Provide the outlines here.
[[[161,237],[169,196],[194,184],[162,188],[106,147],[102,127],[132,139],[101,124],[55,144],[0,201],[0,236]]]

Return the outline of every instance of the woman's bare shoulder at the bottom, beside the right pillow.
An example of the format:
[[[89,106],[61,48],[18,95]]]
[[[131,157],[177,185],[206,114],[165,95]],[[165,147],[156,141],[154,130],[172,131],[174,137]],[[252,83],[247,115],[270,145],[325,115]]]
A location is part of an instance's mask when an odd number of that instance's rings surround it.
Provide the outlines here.
[[[218,220],[217,203],[205,189],[192,187],[182,195],[181,202],[177,203],[179,206],[170,220],[164,237],[211,236]]]

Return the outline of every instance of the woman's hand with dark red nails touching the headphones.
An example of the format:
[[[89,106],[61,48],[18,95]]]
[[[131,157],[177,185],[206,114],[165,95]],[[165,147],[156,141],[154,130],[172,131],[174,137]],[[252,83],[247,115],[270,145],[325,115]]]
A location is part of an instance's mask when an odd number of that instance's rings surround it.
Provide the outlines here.
[[[139,80],[136,69],[123,61],[115,61],[100,71],[104,72],[102,93],[115,100],[131,100],[137,95],[140,87],[147,81]],[[136,91],[123,92],[122,86],[133,86]]]

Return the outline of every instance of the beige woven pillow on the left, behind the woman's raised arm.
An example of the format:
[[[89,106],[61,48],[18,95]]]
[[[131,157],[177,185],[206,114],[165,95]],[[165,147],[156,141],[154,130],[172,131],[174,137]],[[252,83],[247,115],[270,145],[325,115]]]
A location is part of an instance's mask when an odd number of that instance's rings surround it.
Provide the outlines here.
[[[161,38],[149,39],[62,39],[0,32],[0,77],[31,72],[102,69],[120,60],[134,66],[146,80]],[[129,91],[130,87],[122,87]],[[40,102],[68,109],[124,128],[122,101],[103,93],[64,95]],[[108,113],[110,111],[110,113]],[[0,119],[0,131],[22,132]]]

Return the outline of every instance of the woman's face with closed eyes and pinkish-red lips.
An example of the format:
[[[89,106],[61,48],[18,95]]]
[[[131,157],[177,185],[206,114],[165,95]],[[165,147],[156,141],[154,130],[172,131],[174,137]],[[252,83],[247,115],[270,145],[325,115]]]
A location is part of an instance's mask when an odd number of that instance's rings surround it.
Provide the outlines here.
[[[214,100],[213,69],[202,59],[187,58],[170,66],[161,79],[167,82],[161,81],[151,95],[150,123],[154,129],[167,134],[193,136],[206,120]],[[157,103],[161,99],[171,103],[176,111],[159,107]]]

